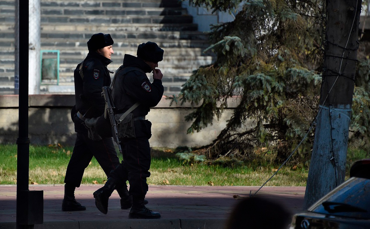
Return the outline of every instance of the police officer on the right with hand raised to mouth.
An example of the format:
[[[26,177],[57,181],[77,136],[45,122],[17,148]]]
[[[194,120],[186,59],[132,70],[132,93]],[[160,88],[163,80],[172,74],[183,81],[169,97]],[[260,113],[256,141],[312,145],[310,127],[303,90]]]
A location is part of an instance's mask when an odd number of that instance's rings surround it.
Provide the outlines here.
[[[149,138],[151,122],[145,119],[151,107],[162,98],[164,88],[163,74],[156,69],[163,60],[164,51],[156,43],[147,42],[138,46],[137,57],[125,54],[123,65],[118,68],[112,88],[115,114],[124,113],[135,103],[139,106],[132,113],[134,137],[120,139],[123,159],[120,166],[112,172],[104,187],[94,192],[95,204],[102,213],[107,213],[108,198],[119,181],[129,181],[132,207],[129,218],[157,219],[161,215],[145,207],[148,191],[147,178],[151,164]],[[128,71],[128,72],[127,72]],[[150,82],[146,73],[153,73]]]

